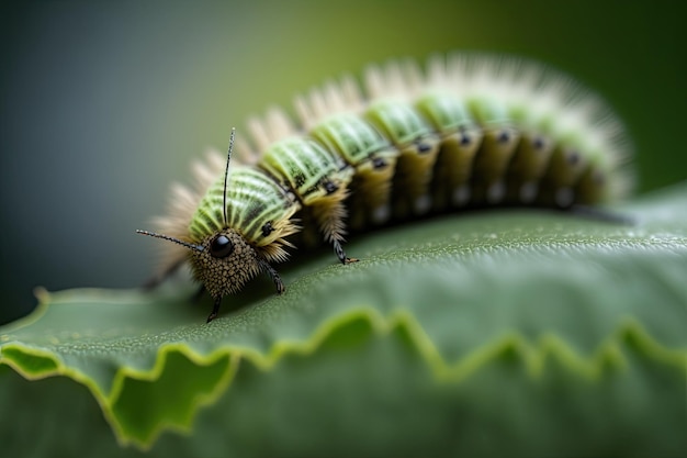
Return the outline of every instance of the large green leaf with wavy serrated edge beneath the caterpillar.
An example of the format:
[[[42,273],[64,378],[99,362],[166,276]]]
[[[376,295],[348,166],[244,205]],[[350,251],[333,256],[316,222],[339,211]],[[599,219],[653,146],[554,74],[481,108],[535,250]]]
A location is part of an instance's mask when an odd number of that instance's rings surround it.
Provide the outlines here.
[[[634,224],[518,210],[392,227],[347,245],[360,262],[324,250],[283,266],[284,295],[260,279],[210,324],[183,279],[40,291],[33,315],[0,328],[0,443],[33,456],[679,455],[686,210],[683,185],[613,209]]]

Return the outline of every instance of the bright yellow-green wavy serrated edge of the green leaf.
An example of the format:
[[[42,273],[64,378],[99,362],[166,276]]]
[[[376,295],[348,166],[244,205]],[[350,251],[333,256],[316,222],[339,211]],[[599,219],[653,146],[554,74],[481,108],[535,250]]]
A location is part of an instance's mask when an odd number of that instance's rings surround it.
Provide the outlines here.
[[[46,292],[45,295],[41,295],[41,299],[43,303],[43,300],[47,301],[49,299],[49,294]],[[109,394],[102,392],[100,387],[89,376],[65,366],[54,354],[37,348],[23,346],[18,343],[2,345],[5,348],[15,348],[29,356],[50,358],[56,364],[55,370],[42,373],[27,372],[20,365],[14,364],[11,358],[3,356],[1,351],[2,346],[0,346],[0,364],[12,367],[18,373],[29,380],[64,376],[86,386],[95,398],[104,417],[113,428],[117,442],[122,446],[131,444],[146,450],[155,444],[159,435],[165,431],[190,434],[192,432],[193,418],[199,409],[214,403],[230,388],[232,380],[240,369],[243,360],[267,372],[288,355],[307,356],[315,353],[334,332],[359,320],[367,321],[378,336],[386,336],[397,328],[405,328],[410,337],[413,347],[427,361],[428,367],[439,383],[460,383],[508,351],[514,351],[523,361],[526,370],[532,379],[538,379],[542,376],[549,359],[555,359],[572,373],[576,373],[578,377],[593,382],[600,379],[606,370],[615,369],[622,371],[627,369],[622,346],[623,344],[627,345],[626,343],[628,342],[633,342],[643,354],[655,361],[675,367],[685,375],[687,381],[687,348],[675,349],[665,347],[654,340],[644,331],[641,323],[631,316],[621,320],[616,328],[599,344],[597,349],[587,356],[581,355],[568,343],[552,333],[543,334],[536,342],[530,342],[522,335],[513,332],[493,339],[451,362],[442,357],[429,335],[408,310],[397,309],[388,316],[384,316],[371,306],[350,310],[328,320],[305,340],[275,342],[267,354],[240,346],[223,346],[210,354],[200,354],[180,343],[164,345],[158,349],[157,358],[151,369],[120,368],[114,376]],[[167,357],[172,351],[184,356],[199,367],[215,364],[222,358],[229,358],[229,370],[227,370],[227,373],[219,380],[211,393],[199,395],[189,404],[189,412],[185,415],[189,418],[187,423],[179,424],[160,418],[156,427],[146,437],[136,437],[131,432],[125,431],[113,412],[113,405],[119,400],[127,378],[145,381],[159,379],[165,370]]]

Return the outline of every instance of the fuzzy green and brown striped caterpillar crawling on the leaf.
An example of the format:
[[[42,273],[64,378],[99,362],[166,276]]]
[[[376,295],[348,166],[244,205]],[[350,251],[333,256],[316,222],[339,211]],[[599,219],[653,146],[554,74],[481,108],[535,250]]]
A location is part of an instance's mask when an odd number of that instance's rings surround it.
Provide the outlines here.
[[[153,283],[189,262],[214,320],[227,294],[296,245],[329,244],[392,222],[470,208],[575,209],[624,196],[629,142],[596,94],[541,64],[452,53],[370,66],[295,99],[297,123],[271,109],[252,142],[194,166],[172,188],[158,232],[172,242]],[[236,143],[236,146],[235,146]],[[234,153],[234,149],[236,152]],[[236,156],[232,159],[233,154]]]

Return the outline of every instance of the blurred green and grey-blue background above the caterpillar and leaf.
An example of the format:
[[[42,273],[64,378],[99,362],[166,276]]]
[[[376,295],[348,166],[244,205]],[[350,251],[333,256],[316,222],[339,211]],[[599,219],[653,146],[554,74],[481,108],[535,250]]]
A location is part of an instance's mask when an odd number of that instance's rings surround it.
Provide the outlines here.
[[[639,192],[687,177],[683,8],[661,1],[2,2],[0,323],[32,289],[128,288],[134,230],[229,129],[371,62],[477,49],[543,60],[601,93]]]

